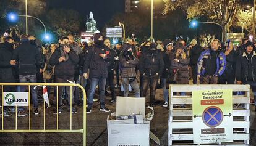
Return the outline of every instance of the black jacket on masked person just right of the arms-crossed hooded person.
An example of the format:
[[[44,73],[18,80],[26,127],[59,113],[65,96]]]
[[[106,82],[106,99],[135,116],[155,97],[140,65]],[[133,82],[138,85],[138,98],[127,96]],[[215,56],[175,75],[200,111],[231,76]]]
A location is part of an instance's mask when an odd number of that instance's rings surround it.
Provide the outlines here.
[[[150,51],[143,53],[139,60],[139,69],[142,75],[144,73],[147,76],[153,76],[156,73],[161,75],[164,69],[163,56],[157,51],[154,53]]]

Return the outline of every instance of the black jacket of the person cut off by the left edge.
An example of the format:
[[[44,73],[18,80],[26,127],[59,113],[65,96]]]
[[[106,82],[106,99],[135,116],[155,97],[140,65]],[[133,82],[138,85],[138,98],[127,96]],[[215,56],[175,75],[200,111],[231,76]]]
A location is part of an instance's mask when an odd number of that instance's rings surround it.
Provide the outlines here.
[[[13,83],[14,79],[14,65],[10,65],[12,53],[14,49],[8,47],[6,44],[0,47],[0,82]]]

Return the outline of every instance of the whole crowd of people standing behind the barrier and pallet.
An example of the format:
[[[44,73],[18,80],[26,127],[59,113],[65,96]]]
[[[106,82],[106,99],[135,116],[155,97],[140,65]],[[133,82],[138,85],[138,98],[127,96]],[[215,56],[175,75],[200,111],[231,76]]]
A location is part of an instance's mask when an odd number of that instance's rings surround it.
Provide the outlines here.
[[[56,97],[56,87],[47,86],[49,97],[53,91],[56,105],[58,98],[59,108],[54,114],[62,112],[64,103],[70,112],[77,113],[76,106],[82,104],[81,100],[87,100],[86,112],[91,113],[97,86],[100,111],[103,112],[110,112],[105,106],[106,95],[111,97],[111,103],[116,103],[115,88],[120,86],[124,97],[129,96],[130,88],[135,97],[147,97],[149,88],[150,107],[155,105],[156,89],[162,87],[163,107],[168,107],[169,84],[189,84],[190,79],[193,84],[250,84],[256,99],[255,48],[255,43],[248,39],[243,39],[237,48],[229,40],[221,44],[218,39],[213,39],[209,47],[201,47],[196,39],[187,46],[183,39],[176,42],[165,39],[158,43],[145,41],[140,45],[134,39],[127,39],[123,44],[112,45],[110,39],[96,33],[90,43],[76,43],[69,34],[59,43],[43,49],[36,44],[34,36],[22,34],[19,43],[7,36],[0,44],[0,82],[72,81],[85,88],[87,99],[82,99],[77,87],[72,87],[74,96],[70,97],[70,87],[59,86]],[[4,86],[4,92],[25,90],[25,86]],[[31,86],[30,91],[33,113],[38,115],[38,90]],[[186,92],[177,94],[186,95]],[[64,99],[66,102],[62,102]],[[11,115],[12,111],[4,107],[4,116]],[[19,107],[18,116],[26,115],[25,108]]]

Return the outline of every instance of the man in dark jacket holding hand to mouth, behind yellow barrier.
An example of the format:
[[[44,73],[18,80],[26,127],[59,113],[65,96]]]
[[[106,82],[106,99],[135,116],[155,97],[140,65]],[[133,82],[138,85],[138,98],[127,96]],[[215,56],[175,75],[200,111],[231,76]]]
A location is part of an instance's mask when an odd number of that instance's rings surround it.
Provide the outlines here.
[[[66,36],[61,38],[61,46],[54,51],[54,53],[51,55],[51,58],[49,59],[49,64],[54,66],[55,70],[54,74],[56,77],[56,83],[68,83],[67,80],[74,82],[74,76],[75,76],[75,67],[77,66],[77,63],[79,63],[79,57],[77,54],[75,54],[75,51],[72,49],[72,47],[69,46],[69,38]],[[66,88],[67,91],[67,100],[68,104],[70,106],[70,87],[67,86],[59,86],[58,88],[58,111],[56,110],[54,113],[58,114],[62,112],[61,105],[62,105],[62,91]],[[72,87],[72,91],[74,91],[74,87]],[[57,101],[57,100],[56,100]],[[72,96],[72,104],[74,104],[74,97]],[[57,105],[57,103],[56,103]],[[69,109],[70,107],[68,107]],[[77,113],[77,109],[72,105],[72,110],[70,111],[72,113]]]

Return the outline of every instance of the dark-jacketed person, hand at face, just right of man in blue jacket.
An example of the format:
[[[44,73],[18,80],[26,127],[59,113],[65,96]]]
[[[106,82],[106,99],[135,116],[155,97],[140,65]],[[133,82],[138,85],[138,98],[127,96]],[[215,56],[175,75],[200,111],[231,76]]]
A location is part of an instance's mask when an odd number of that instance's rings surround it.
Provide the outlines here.
[[[224,51],[226,56],[226,69],[223,75],[218,78],[219,84],[234,84],[236,78],[236,60],[238,52],[234,50],[233,43],[228,41],[226,45],[226,51]]]

